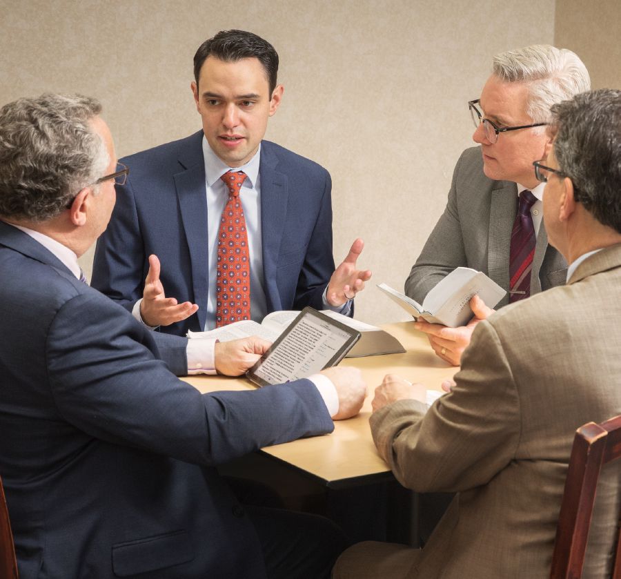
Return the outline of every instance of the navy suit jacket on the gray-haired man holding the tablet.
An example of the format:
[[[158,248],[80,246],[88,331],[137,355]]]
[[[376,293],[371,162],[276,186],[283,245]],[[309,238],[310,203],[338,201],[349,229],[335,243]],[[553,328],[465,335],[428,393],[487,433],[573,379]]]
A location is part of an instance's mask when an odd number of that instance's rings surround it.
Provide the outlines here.
[[[331,431],[312,383],[201,395],[124,308],[3,222],[0,279],[0,474],[20,577],[264,578],[215,465]]]

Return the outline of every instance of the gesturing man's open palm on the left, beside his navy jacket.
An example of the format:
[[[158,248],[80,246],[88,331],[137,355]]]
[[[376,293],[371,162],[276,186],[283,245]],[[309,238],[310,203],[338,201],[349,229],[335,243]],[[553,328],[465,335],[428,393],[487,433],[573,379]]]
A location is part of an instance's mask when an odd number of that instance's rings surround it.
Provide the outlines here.
[[[159,281],[159,259],[149,255],[149,273],[144,282],[140,304],[142,321],[148,326],[168,326],[185,320],[196,313],[198,306],[192,302],[177,304],[174,297],[166,297],[164,286]]]

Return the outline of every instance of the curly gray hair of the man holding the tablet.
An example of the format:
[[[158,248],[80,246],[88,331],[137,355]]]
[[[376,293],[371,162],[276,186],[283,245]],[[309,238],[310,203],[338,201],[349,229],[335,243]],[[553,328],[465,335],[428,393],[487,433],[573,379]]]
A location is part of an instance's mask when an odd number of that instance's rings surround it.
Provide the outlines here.
[[[0,109],[1,216],[52,219],[103,176],[110,156],[89,125],[99,112],[95,99],[54,94]]]

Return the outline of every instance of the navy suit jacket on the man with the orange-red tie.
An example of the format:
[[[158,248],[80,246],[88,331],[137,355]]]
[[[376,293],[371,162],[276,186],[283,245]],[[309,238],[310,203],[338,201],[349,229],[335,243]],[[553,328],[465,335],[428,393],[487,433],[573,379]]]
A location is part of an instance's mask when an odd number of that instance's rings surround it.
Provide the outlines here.
[[[130,168],[95,251],[91,285],[131,311],[142,297],[148,256],[161,261],[169,297],[198,304],[195,315],[163,326],[202,331],[207,315],[208,240],[202,130],[121,159]],[[261,230],[268,313],[313,306],[334,271],[332,182],[313,161],[281,146],[261,146]]]

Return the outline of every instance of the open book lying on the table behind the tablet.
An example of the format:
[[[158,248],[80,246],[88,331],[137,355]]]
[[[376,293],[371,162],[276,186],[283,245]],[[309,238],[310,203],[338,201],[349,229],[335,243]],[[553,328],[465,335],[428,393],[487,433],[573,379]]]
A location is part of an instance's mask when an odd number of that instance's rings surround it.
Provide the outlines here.
[[[397,338],[377,328],[377,326],[371,326],[370,324],[359,322],[359,320],[353,320],[351,317],[331,310],[322,310],[322,313],[361,333],[360,340],[356,342],[353,348],[347,353],[346,357],[405,352],[404,347]],[[239,337],[257,335],[264,338],[264,340],[274,342],[284,329],[295,320],[298,314],[298,311],[288,310],[272,312],[266,315],[260,324],[258,322],[253,322],[253,320],[243,320],[242,322],[233,322],[233,324],[228,324],[228,326],[216,328],[208,332],[193,332],[190,330],[188,331],[188,337],[193,339],[215,337],[220,340],[220,342],[228,342],[229,340],[237,340]]]

